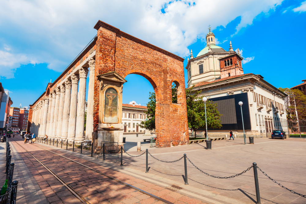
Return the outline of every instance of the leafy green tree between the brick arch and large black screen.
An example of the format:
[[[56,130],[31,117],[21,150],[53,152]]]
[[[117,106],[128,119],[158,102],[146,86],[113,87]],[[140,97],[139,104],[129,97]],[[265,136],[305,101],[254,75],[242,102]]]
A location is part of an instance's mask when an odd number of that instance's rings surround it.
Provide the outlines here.
[[[203,96],[198,96],[201,91],[194,91],[193,87],[186,89],[187,121],[188,128],[196,132],[199,128],[205,128],[205,105],[202,101]],[[217,109],[218,104],[207,100],[206,116],[207,128],[221,128],[222,116]],[[206,130],[205,130],[206,134]]]

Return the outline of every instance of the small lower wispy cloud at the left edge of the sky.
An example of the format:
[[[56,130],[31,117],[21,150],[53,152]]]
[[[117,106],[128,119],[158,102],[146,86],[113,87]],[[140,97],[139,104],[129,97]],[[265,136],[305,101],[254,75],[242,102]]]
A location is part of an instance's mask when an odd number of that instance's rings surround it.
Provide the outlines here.
[[[5,50],[0,50],[0,76],[7,79],[14,78],[14,72],[21,64],[33,64],[37,62],[29,58],[26,54],[15,54],[9,52],[11,49],[5,47]]]

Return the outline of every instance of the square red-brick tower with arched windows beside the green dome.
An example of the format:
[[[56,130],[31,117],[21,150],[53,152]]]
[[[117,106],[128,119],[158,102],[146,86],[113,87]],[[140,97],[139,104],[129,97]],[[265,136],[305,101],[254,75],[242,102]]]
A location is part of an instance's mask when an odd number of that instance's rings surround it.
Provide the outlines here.
[[[224,61],[230,59],[233,60],[233,65],[225,66]],[[237,76],[243,74],[241,59],[237,56],[237,54],[220,59],[221,79],[228,77],[229,76],[228,73],[230,73],[230,76]]]

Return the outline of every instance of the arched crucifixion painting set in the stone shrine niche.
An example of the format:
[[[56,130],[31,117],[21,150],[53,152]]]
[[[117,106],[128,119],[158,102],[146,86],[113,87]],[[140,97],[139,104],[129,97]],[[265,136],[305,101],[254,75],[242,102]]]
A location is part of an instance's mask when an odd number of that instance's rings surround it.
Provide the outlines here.
[[[112,87],[105,92],[104,123],[118,123],[118,93]]]

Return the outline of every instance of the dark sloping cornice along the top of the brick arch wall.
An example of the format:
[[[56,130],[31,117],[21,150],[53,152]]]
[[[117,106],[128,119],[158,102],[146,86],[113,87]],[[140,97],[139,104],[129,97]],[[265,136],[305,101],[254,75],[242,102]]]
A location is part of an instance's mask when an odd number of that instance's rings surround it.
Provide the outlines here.
[[[132,40],[132,41],[134,41],[134,42],[136,42],[136,43],[139,43],[139,44],[141,44],[141,45],[144,45],[144,46],[146,46],[146,47],[149,47],[149,48],[151,48],[152,50],[156,50],[156,51],[158,51],[158,52],[161,52],[162,54],[165,54],[165,55],[168,55],[168,56],[170,56],[170,57],[173,57],[173,58],[175,58],[175,59],[177,59],[177,60],[179,60],[179,61],[182,61],[182,62],[183,62],[183,61],[185,60],[184,58],[179,57],[179,56],[177,56],[177,55],[175,55],[175,54],[173,54],[173,53],[171,53],[171,52],[168,52],[168,51],[166,51],[166,50],[164,50],[164,49],[162,49],[162,48],[159,48],[159,47],[157,47],[157,46],[155,46],[155,45],[152,45],[152,44],[150,44],[150,43],[147,43],[147,42],[145,42],[145,41],[143,41],[143,40],[141,40],[141,39],[139,39],[139,38],[136,38],[136,37],[134,37],[134,36],[132,36],[132,35],[129,35],[129,34],[125,33],[125,32],[122,32],[120,29],[118,29],[118,28],[116,28],[116,27],[114,27],[114,26],[111,26],[110,24],[107,24],[107,23],[105,23],[105,22],[103,22],[103,21],[101,21],[101,20],[99,20],[99,21],[95,24],[94,28],[95,28],[96,30],[99,30],[100,27],[106,28],[106,29],[108,29],[108,30],[110,30],[110,31],[112,31],[112,32],[115,32],[115,33],[118,34],[118,35],[121,35],[121,36],[123,36],[123,37],[125,37],[125,38],[127,38],[127,39],[130,39],[130,40]]]

